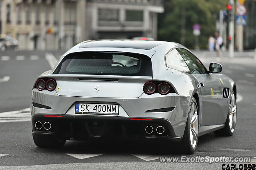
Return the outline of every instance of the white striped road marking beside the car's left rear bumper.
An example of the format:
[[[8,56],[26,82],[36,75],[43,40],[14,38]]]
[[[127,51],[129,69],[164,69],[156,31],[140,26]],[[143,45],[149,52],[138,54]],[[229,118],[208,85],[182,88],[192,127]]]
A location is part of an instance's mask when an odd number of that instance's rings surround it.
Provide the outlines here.
[[[0,123],[31,121],[30,108],[0,113]]]

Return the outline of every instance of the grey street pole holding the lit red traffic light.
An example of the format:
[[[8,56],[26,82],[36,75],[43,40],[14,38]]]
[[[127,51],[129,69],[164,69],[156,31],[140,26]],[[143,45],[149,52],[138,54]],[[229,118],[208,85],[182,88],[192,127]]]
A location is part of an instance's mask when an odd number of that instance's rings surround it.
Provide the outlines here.
[[[231,38],[230,44],[229,44],[229,57],[234,58],[234,0],[229,0],[230,5],[232,6],[231,10],[231,20],[229,22],[229,37]]]

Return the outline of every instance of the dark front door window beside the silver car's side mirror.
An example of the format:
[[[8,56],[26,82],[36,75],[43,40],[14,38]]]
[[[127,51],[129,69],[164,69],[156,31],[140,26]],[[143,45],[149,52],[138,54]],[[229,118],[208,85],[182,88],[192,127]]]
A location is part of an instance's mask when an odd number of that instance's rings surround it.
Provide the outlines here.
[[[191,74],[203,74],[206,72],[204,65],[188,50],[178,48],[177,51],[185,60]]]

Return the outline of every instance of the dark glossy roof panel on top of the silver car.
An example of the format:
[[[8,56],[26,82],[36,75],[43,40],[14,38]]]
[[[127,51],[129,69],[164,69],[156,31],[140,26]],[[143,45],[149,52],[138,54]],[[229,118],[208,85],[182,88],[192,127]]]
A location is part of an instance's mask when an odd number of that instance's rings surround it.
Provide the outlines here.
[[[132,48],[150,50],[158,45],[166,44],[165,41],[140,41],[140,40],[92,40],[84,41],[79,48],[106,47],[106,48]]]

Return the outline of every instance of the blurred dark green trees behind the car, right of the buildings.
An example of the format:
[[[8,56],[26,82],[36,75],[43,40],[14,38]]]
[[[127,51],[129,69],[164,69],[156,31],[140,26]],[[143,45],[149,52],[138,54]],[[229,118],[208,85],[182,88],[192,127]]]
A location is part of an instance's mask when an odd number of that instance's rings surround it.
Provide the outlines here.
[[[185,45],[194,48],[193,25],[201,26],[199,46],[206,49],[208,37],[216,31],[216,17],[225,10],[228,0],[165,0],[158,16],[158,39],[181,43],[182,12],[185,11]],[[183,9],[183,10],[182,10]]]

